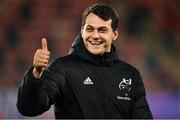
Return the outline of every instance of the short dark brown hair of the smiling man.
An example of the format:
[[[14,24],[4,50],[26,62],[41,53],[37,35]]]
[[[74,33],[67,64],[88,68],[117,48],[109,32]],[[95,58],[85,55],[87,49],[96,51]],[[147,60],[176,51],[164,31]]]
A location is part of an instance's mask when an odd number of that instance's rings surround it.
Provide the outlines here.
[[[118,29],[119,27],[118,12],[114,8],[105,4],[94,4],[88,7],[83,13],[81,27],[84,27],[86,18],[90,13],[96,14],[98,17],[102,18],[104,21],[108,21],[111,19],[112,20],[111,27],[113,31]]]

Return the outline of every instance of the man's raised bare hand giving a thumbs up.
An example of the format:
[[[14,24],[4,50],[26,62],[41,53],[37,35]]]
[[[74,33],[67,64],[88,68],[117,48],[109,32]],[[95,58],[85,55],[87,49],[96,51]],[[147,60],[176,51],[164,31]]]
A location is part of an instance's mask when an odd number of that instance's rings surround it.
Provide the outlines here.
[[[37,49],[33,59],[33,75],[35,78],[40,78],[44,69],[48,66],[50,52],[47,46],[46,38],[42,38],[42,48]]]

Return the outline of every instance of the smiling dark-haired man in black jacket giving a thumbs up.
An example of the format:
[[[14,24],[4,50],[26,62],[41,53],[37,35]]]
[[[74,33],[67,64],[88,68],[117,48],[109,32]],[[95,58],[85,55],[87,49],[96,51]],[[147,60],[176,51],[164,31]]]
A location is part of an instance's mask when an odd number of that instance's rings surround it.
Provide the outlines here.
[[[54,104],[56,118],[152,118],[139,72],[118,59],[118,14],[95,4],[67,56],[49,66],[46,39],[20,85],[17,108],[36,116]]]

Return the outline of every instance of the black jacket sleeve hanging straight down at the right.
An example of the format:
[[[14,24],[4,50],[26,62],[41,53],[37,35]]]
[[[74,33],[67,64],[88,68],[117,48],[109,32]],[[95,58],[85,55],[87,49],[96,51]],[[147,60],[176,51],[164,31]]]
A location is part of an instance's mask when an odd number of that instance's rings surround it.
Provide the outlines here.
[[[132,108],[133,119],[153,119],[149,104],[146,100],[146,92],[142,78],[138,71],[134,74],[136,80],[134,86],[134,103]]]

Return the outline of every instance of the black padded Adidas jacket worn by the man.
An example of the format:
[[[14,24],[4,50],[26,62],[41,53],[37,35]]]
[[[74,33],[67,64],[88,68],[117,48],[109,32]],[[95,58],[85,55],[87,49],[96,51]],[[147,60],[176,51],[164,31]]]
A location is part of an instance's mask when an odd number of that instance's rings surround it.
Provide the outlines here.
[[[54,60],[37,80],[31,67],[17,108],[36,116],[54,106],[56,118],[152,118],[139,72],[118,59],[115,47],[95,56],[79,35],[69,55]]]

